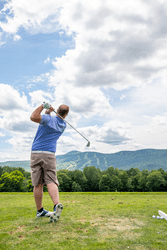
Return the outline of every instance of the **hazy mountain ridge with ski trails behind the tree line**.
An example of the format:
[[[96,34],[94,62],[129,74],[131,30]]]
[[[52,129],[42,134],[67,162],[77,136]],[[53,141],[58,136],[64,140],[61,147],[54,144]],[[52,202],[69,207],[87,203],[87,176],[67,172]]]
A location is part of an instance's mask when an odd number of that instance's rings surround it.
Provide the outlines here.
[[[105,170],[110,166],[128,170],[130,168],[159,169],[167,171],[167,149],[143,149],[137,151],[121,151],[113,154],[97,152],[71,151],[64,155],[56,156],[57,169],[83,170],[85,166],[95,166]],[[30,171],[29,161],[0,162],[0,166],[22,167]]]

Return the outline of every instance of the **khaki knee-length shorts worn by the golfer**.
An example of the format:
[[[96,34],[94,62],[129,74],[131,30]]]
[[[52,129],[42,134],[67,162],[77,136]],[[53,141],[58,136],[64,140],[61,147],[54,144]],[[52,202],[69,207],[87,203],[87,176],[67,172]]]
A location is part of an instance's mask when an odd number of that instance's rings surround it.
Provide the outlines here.
[[[56,171],[56,157],[54,154],[31,153],[31,180],[32,185],[47,185],[55,183],[59,186]]]

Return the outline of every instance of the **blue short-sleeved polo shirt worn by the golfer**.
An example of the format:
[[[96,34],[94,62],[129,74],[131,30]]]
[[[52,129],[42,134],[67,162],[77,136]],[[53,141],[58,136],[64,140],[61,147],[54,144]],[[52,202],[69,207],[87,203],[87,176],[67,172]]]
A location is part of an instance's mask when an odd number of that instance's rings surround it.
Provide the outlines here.
[[[56,152],[57,140],[66,128],[66,123],[58,116],[42,115],[35,135],[32,151]]]

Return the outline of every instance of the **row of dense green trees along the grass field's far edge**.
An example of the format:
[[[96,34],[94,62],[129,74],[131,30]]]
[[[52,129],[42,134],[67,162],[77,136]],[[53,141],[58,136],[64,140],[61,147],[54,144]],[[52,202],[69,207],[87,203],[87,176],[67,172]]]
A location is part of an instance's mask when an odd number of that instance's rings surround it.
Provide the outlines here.
[[[60,192],[155,192],[167,191],[167,172],[95,166],[57,171]],[[31,174],[23,168],[0,166],[0,192],[32,192]],[[44,191],[47,188],[44,187]]]

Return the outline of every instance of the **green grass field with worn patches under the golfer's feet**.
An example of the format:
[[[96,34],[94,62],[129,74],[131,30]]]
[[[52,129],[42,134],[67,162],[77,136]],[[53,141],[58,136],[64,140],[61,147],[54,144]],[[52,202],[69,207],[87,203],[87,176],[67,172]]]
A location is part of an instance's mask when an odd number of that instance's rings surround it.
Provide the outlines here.
[[[35,218],[32,193],[0,193],[0,249],[167,249],[167,193],[60,193],[60,220]],[[48,193],[44,208],[52,211]]]

